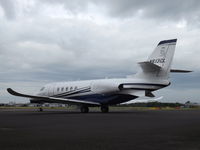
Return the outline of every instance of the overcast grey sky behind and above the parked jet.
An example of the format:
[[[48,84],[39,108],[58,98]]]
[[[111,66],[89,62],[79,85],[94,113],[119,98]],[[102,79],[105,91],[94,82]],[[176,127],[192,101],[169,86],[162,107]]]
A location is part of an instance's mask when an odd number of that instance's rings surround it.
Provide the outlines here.
[[[0,0],[0,102],[11,87],[36,93],[57,81],[136,73],[160,40],[177,38],[162,101],[200,102],[199,0]]]

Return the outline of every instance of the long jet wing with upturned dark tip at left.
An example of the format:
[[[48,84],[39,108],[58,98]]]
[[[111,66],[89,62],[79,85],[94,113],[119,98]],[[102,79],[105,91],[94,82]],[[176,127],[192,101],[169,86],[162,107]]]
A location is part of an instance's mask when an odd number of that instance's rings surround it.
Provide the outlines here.
[[[26,98],[33,98],[36,101],[42,101],[47,103],[63,103],[63,104],[75,104],[75,105],[92,105],[92,106],[99,106],[100,103],[97,102],[91,102],[91,101],[82,101],[82,100],[76,100],[76,99],[65,99],[65,98],[56,98],[56,97],[48,97],[48,96],[36,96],[36,95],[28,95],[28,94],[22,94],[14,91],[11,88],[7,89],[8,93],[14,96],[19,97],[26,97]]]

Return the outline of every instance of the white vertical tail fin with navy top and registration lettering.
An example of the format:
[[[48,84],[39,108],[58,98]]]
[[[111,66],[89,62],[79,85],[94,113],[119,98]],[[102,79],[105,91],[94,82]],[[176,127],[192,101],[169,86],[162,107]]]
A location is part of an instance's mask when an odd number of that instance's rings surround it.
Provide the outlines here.
[[[177,39],[160,41],[147,61],[140,62],[142,70],[136,74],[139,78],[168,79]]]

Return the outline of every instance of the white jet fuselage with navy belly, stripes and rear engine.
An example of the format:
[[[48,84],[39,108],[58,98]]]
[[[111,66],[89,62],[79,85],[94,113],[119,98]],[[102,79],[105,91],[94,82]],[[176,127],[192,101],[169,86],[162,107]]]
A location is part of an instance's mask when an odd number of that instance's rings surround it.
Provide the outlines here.
[[[145,91],[155,91],[168,85],[168,80],[139,78],[57,82],[45,85],[38,95],[112,105],[145,96]]]

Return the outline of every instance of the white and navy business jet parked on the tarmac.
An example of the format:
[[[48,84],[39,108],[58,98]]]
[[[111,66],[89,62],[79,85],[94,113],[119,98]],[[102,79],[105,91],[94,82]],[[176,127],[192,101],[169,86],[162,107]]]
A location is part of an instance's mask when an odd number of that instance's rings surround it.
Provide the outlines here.
[[[89,107],[99,106],[107,113],[109,106],[124,103],[138,97],[154,97],[153,91],[170,85],[170,72],[186,73],[187,70],[171,69],[177,39],[160,41],[147,61],[139,62],[140,71],[126,78],[57,82],[47,84],[36,95],[7,91],[30,98],[31,103],[62,103],[78,105],[82,113]]]

